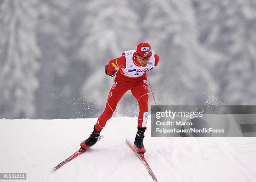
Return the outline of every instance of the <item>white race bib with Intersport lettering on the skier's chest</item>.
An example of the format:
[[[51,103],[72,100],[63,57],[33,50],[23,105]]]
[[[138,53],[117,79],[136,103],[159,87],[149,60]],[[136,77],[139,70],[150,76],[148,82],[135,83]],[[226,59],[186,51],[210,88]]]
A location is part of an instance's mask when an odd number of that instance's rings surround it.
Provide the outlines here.
[[[155,66],[155,54],[152,50],[151,58],[148,62],[148,65],[146,67],[142,66],[136,66],[133,62],[133,53],[136,52],[136,50],[129,50],[125,51],[125,59],[126,59],[126,68],[121,68],[125,76],[127,77],[140,77],[143,75],[143,73],[150,70],[152,67]]]

